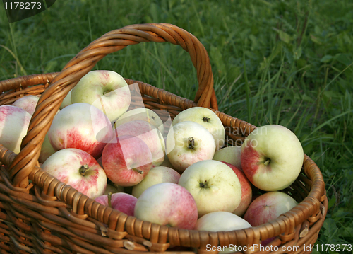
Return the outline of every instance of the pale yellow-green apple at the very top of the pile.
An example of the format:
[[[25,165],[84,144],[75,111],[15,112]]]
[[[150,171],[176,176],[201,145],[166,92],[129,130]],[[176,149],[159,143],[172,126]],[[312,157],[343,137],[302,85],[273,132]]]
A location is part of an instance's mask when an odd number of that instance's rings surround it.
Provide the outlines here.
[[[88,103],[116,121],[131,103],[125,79],[115,71],[90,71],[72,88],[71,103]]]

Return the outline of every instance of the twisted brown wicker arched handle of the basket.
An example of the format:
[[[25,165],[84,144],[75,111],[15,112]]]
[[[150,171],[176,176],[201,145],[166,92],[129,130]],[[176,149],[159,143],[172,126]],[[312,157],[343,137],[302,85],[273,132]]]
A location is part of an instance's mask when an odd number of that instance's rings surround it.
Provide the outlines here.
[[[112,30],[73,57],[42,93],[30,120],[28,133],[22,141],[21,151],[9,168],[13,186],[25,187],[28,184],[28,175],[38,161],[45,134],[68,91],[107,54],[140,42],[170,42],[189,52],[198,78],[195,102],[198,106],[217,110],[210,59],[205,47],[194,35],[176,25],[155,23],[128,25]]]

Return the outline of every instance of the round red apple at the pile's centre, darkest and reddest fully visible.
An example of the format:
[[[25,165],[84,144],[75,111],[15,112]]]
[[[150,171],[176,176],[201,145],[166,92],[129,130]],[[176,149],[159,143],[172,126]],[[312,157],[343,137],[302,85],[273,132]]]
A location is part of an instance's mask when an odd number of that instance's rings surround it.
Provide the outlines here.
[[[121,186],[140,183],[152,168],[152,154],[138,137],[114,137],[103,149],[102,165],[109,180]]]

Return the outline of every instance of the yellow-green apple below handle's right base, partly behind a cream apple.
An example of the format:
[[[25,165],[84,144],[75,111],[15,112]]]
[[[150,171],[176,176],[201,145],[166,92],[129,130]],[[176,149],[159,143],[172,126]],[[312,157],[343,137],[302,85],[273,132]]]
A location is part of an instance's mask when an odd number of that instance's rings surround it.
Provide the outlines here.
[[[193,107],[181,111],[172,122],[176,125],[178,122],[192,121],[202,125],[213,135],[215,141],[215,150],[220,149],[225,144],[225,127],[215,112],[208,108]]]

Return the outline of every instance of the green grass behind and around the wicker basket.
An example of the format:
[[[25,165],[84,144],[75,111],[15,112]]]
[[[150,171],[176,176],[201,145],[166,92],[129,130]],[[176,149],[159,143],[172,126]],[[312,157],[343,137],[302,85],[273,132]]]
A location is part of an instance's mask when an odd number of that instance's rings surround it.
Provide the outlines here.
[[[173,23],[196,35],[222,112],[297,134],[330,200],[318,244],[352,244],[353,2],[56,1],[11,25],[1,7],[0,79],[60,71],[92,40],[134,23]],[[197,88],[189,55],[176,45],[129,46],[95,68],[190,99]]]

